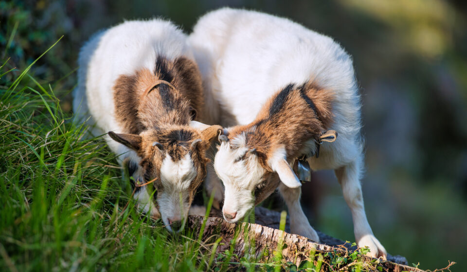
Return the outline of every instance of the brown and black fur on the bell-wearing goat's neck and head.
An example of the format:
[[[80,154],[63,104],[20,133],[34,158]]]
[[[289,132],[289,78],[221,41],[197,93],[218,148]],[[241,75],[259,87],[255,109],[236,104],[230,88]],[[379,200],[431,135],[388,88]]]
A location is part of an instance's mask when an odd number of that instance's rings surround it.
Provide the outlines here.
[[[333,121],[331,103],[334,94],[313,83],[288,85],[272,96],[248,125],[229,130],[229,138],[245,134],[246,145],[256,149],[259,162],[271,171],[267,158],[284,146],[287,158],[301,154],[303,144],[318,139]]]

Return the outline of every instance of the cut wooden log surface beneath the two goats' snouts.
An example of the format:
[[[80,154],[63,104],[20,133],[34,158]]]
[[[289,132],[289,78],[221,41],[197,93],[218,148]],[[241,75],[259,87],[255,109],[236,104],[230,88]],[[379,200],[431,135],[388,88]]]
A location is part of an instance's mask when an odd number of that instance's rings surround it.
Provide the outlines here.
[[[336,252],[345,255],[346,252],[351,252],[356,249],[352,248],[349,243],[345,243],[340,239],[330,237],[318,231],[320,243],[315,243],[308,238],[300,235],[289,234],[288,217],[285,232],[279,230],[280,213],[271,211],[263,207],[255,208],[255,223],[229,223],[219,217],[220,211],[214,210],[211,216],[206,220],[202,238],[203,240],[213,236],[222,237],[222,244],[217,247],[217,252],[223,252],[230,248],[232,240],[235,237],[235,230],[239,229],[234,243],[234,254],[241,258],[244,255],[251,254],[263,261],[273,257],[275,252],[283,244],[282,255],[286,262],[292,262],[297,267],[307,260],[311,252],[326,253]],[[193,228],[197,234],[203,223],[202,216],[192,215],[188,217],[187,225]],[[247,242],[246,242],[247,241]],[[363,256],[364,262],[375,261],[376,259]],[[377,260],[378,266],[387,272],[402,272],[414,271],[422,272],[422,270],[407,266],[407,260],[403,256],[388,255],[388,260]]]

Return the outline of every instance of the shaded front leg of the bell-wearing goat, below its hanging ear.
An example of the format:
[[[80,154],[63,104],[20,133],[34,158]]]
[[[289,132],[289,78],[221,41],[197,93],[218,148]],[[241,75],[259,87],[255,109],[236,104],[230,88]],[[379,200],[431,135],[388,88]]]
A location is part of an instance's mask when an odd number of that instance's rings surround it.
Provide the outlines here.
[[[289,188],[281,182],[279,184],[279,192],[287,204],[288,216],[290,218],[290,232],[319,242],[320,238],[308,222],[303,212],[302,205],[300,204],[302,188]]]

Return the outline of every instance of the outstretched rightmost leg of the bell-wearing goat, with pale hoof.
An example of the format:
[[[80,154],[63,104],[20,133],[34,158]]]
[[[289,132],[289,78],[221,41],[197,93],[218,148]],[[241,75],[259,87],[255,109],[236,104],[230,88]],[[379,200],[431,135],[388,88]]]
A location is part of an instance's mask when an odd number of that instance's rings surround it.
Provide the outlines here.
[[[370,252],[367,255],[371,257],[382,257],[383,259],[386,259],[386,250],[373,235],[373,231],[371,230],[370,224],[366,218],[359,181],[361,171],[359,160],[355,160],[354,162],[334,171],[339,183],[341,184],[345,202],[347,202],[347,205],[352,212],[354,234],[358,246],[360,248],[368,247]]]

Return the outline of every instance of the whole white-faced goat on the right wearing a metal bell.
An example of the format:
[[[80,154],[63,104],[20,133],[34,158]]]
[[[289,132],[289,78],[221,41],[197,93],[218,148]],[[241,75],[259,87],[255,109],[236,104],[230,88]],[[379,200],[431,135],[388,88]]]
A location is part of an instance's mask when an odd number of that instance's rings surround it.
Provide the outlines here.
[[[225,187],[224,218],[240,220],[278,187],[291,232],[318,241],[290,167],[305,157],[313,170],[335,170],[358,245],[385,258],[363,206],[360,97],[351,57],[331,38],[290,20],[229,8],[201,17],[189,41],[220,124],[236,125],[219,137],[214,161]]]

